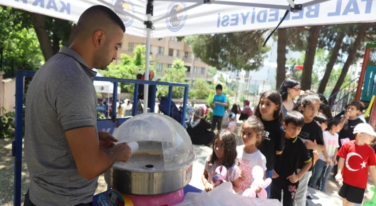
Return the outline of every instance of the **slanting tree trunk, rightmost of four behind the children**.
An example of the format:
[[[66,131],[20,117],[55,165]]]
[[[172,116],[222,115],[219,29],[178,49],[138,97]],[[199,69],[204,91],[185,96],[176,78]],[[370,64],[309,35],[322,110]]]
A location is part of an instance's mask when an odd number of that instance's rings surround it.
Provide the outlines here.
[[[349,71],[349,68],[350,68],[351,64],[353,63],[353,61],[355,59],[356,52],[359,49],[359,46],[360,46],[360,44],[361,44],[361,42],[362,42],[362,40],[365,36],[365,31],[367,30],[368,26],[369,26],[369,24],[363,24],[359,28],[358,36],[356,36],[355,41],[353,43],[353,46],[351,47],[351,49],[349,51],[349,55],[347,56],[347,60],[346,60],[345,64],[343,65],[340,77],[338,78],[337,83],[335,84],[335,86],[333,88],[331,96],[334,95],[336,92],[338,92],[341,89],[341,85],[343,84],[343,81],[346,78],[346,74]]]

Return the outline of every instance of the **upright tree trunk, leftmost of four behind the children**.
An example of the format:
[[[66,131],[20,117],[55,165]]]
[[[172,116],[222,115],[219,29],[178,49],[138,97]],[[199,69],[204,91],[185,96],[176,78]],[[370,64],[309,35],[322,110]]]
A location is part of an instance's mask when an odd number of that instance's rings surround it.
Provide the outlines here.
[[[286,78],[286,28],[278,28],[276,90]]]

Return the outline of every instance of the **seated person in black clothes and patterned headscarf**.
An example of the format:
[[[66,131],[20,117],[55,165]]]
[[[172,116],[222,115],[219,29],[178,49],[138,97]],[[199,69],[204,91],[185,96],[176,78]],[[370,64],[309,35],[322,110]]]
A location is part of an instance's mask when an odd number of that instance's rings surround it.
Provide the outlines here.
[[[203,118],[204,108],[199,107],[187,127],[187,133],[194,145],[209,145],[214,139],[214,132],[209,131],[211,124]]]

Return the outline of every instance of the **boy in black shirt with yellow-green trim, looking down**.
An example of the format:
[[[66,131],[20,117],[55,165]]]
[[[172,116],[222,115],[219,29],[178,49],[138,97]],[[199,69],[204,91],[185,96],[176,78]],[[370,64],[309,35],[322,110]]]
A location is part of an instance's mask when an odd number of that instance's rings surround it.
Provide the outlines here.
[[[299,179],[311,167],[312,158],[304,140],[298,137],[304,125],[304,117],[297,111],[288,111],[283,123],[285,127],[285,149],[277,157],[274,164],[273,180],[270,188],[270,198],[281,200],[283,190],[283,205],[293,206],[295,192],[299,185]],[[300,166],[303,165],[300,172]]]

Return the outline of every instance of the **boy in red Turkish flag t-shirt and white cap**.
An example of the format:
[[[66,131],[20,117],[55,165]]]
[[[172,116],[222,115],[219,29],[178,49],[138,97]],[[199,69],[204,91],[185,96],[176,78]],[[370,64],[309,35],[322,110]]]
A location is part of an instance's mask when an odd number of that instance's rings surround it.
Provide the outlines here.
[[[354,128],[354,134],[355,140],[344,143],[337,154],[340,161],[335,179],[341,185],[338,195],[343,198],[344,206],[362,203],[367,188],[368,167],[372,181],[376,180],[376,156],[374,150],[367,145],[376,133],[371,125],[361,123]]]

